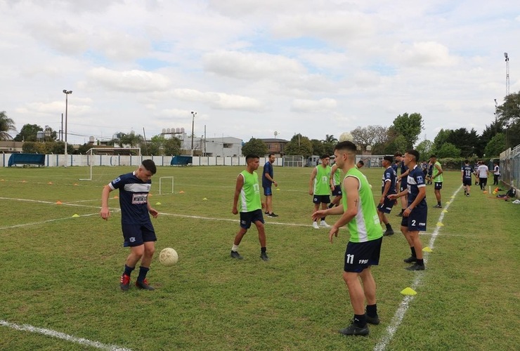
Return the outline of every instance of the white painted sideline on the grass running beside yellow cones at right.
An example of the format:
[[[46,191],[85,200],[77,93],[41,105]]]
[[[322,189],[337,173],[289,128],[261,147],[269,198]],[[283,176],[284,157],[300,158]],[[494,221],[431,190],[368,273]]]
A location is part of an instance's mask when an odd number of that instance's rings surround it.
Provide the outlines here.
[[[459,192],[461,189],[462,189],[462,185],[457,190],[455,190],[455,192],[453,193],[453,195],[452,195],[453,199],[455,199],[455,195],[457,195],[457,192]],[[452,204],[452,203],[453,203],[453,200],[450,201],[450,204]],[[447,210],[448,207],[450,207],[450,204],[447,204],[446,207],[441,210],[441,216],[438,216],[437,223],[442,223],[443,218],[444,218],[444,213],[445,213],[444,210]],[[441,226],[437,225],[434,232],[431,234],[431,238],[428,243],[428,246],[431,249],[433,249],[433,247],[434,247],[435,239],[437,239],[437,237],[438,237],[439,230],[441,230]],[[425,252],[424,253],[424,263],[428,262],[428,256],[429,256],[429,254],[427,252]],[[422,274],[415,275],[415,279],[411,286],[412,289],[414,289],[414,290],[417,289],[417,286],[419,286],[419,284],[421,283],[421,278],[422,278]],[[398,327],[401,325],[401,322],[403,322],[405,313],[408,310],[408,306],[412,302],[413,298],[414,298],[414,296],[405,296],[403,298],[403,300],[401,301],[401,305],[399,305],[399,307],[396,311],[396,314],[394,314],[394,317],[392,317],[390,325],[386,328],[386,334],[381,338],[381,340],[379,340],[379,343],[377,343],[377,345],[375,345],[375,347],[374,347],[375,351],[383,351],[386,349],[386,345],[388,345],[390,340],[392,340]]]

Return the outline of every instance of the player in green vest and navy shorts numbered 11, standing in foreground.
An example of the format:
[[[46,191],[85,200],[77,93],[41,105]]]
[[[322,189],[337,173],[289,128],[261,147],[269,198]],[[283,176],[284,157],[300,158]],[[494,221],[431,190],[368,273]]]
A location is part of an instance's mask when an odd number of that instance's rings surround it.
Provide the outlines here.
[[[339,227],[349,228],[350,240],[346,246],[343,279],[349,290],[354,310],[352,324],[339,333],[368,335],[367,323],[379,324],[375,299],[375,280],[370,267],[379,264],[383,231],[368,180],[356,168],[356,145],[343,141],[334,147],[336,164],[345,173],[342,181],[342,205],[313,213],[313,218],[342,215],[329,232],[329,240],[337,237]],[[363,282],[361,285],[359,278]],[[366,311],[363,308],[367,300]]]

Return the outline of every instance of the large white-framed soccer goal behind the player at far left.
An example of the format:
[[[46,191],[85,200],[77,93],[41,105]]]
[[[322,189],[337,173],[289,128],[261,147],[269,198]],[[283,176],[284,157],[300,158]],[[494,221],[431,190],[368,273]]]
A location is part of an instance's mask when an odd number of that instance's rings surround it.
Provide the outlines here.
[[[93,166],[127,166],[132,156],[141,156],[141,147],[92,147],[86,152],[86,164],[90,168],[89,178],[92,180]]]

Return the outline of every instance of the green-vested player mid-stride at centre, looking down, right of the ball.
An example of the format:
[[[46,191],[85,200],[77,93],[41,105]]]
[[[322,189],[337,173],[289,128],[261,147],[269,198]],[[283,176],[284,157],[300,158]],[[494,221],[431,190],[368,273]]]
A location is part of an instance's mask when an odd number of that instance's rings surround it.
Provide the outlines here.
[[[245,233],[251,223],[256,225],[258,230],[258,238],[260,240],[261,253],[260,258],[264,261],[268,261],[266,253],[266,230],[264,228],[264,216],[262,214],[262,208],[264,204],[261,203],[260,199],[260,185],[258,181],[258,174],[256,169],[260,165],[260,157],[249,154],[245,158],[247,168],[245,171],[240,172],[237,177],[237,183],[235,186],[235,196],[233,197],[233,214],[238,214],[238,202],[240,200],[240,230],[235,236],[233,247],[231,248],[231,257],[242,259],[240,253],[238,253],[238,245],[242,241]]]

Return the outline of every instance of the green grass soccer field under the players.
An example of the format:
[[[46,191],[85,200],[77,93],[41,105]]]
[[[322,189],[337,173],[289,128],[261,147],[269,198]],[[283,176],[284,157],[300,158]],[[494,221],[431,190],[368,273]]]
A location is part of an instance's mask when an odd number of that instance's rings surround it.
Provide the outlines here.
[[[380,265],[372,270],[382,324],[370,326],[368,337],[346,338],[337,330],[352,316],[342,281],[349,235],[342,230],[330,244],[327,230],[311,227],[311,168],[275,168],[280,190],[273,205],[280,217],[266,218],[268,263],[259,259],[254,228],[240,245],[245,259],[229,257],[238,230],[233,191],[242,169],[158,169],[149,199],[161,214],[153,220],[157,253],[148,274],[157,289],[132,287],[123,293],[119,276],[128,251],[122,248],[117,199],[110,199],[110,220],[98,211],[103,185],[134,168],[94,168],[91,181],[79,181],[89,175],[87,168],[1,168],[0,349],[512,350],[520,345],[520,205],[477,187],[464,197],[457,192],[460,172],[445,173],[443,204],[449,206],[442,223],[443,210],[432,208],[434,190],[427,187],[428,228],[421,238],[423,246],[432,244],[432,237],[435,241],[424,272],[404,270],[410,251],[394,209],[389,219],[396,234],[384,238]],[[363,172],[378,193],[382,169]],[[174,176],[174,194],[159,194],[162,176]],[[171,192],[168,182],[162,190]],[[164,247],[178,251],[174,267],[157,262]],[[400,291],[406,287],[417,295],[403,303]],[[398,310],[405,312],[402,320],[392,322]]]

